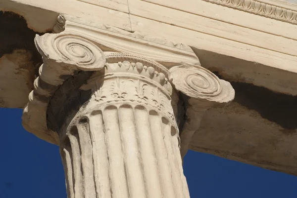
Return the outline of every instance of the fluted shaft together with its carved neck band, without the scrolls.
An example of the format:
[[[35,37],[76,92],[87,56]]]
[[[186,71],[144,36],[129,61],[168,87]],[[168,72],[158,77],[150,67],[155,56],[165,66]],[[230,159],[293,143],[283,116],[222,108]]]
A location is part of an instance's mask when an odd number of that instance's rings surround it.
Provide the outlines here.
[[[189,198],[171,85],[142,63],[108,63],[60,133],[68,198]]]

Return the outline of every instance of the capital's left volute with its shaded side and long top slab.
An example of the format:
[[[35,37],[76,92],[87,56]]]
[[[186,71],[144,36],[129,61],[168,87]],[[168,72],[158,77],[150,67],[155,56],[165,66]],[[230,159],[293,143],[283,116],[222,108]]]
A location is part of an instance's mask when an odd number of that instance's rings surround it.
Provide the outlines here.
[[[47,124],[51,98],[58,87],[71,81],[70,78],[78,77],[73,84],[78,89],[94,72],[102,70],[105,63],[110,62],[107,60],[110,54],[126,54],[126,61],[140,62],[147,67],[154,61],[160,65],[155,68],[157,72],[183,62],[199,65],[197,56],[187,45],[126,32],[77,17],[60,15],[53,32],[36,36],[35,43],[44,64],[39,69],[39,77],[34,82],[34,90],[29,95],[29,103],[22,117],[26,130],[53,144],[59,144],[59,140],[56,132]],[[113,57],[111,62],[115,59],[117,57]],[[167,72],[161,73],[166,76]]]

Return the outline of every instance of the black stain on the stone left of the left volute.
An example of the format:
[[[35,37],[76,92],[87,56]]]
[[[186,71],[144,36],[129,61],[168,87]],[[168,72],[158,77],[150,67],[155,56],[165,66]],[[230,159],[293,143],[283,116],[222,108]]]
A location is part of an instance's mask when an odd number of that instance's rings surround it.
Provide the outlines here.
[[[16,49],[27,50],[32,54],[31,60],[36,68],[35,75],[38,76],[42,57],[35,47],[34,38],[39,33],[29,29],[26,20],[13,12],[0,11],[0,27],[0,57]]]

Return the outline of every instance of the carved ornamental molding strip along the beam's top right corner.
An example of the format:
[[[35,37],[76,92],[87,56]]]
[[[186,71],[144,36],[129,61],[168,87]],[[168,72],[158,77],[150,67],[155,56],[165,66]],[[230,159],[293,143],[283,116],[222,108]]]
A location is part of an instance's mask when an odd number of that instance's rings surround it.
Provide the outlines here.
[[[267,18],[297,24],[297,12],[256,0],[204,0]]]

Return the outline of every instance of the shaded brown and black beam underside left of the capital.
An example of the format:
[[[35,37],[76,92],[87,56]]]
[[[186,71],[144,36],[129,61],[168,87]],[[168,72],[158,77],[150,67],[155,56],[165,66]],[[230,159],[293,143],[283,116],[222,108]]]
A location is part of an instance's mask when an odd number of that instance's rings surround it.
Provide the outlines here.
[[[0,26],[0,107],[23,108],[42,62],[32,42],[36,33],[11,12],[0,12]]]

